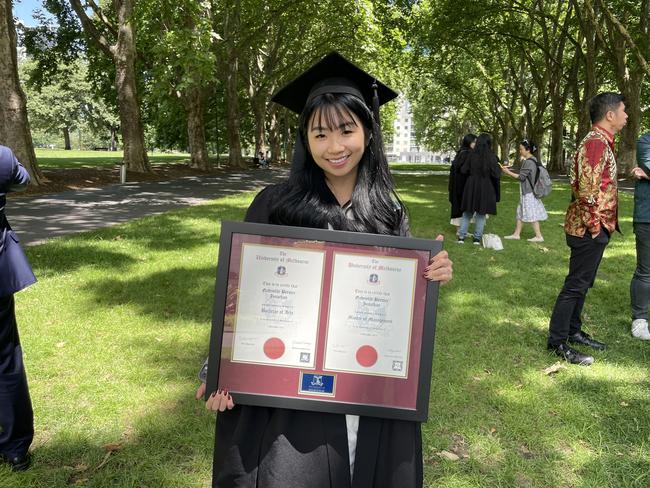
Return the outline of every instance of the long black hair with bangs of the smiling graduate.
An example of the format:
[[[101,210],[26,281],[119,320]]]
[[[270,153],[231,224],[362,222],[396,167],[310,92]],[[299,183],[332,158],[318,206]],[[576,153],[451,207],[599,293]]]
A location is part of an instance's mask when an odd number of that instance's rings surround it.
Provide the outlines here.
[[[352,192],[353,219],[346,217],[327,186],[324,171],[306,150],[309,120],[314,113],[322,119],[320,126],[334,128],[335,120],[352,119],[351,114],[363,124],[366,148]],[[379,125],[366,104],[349,94],[325,93],[305,106],[291,174],[280,190],[271,222],[281,225],[324,228],[330,224],[337,230],[397,235],[406,218],[406,209],[395,193]]]

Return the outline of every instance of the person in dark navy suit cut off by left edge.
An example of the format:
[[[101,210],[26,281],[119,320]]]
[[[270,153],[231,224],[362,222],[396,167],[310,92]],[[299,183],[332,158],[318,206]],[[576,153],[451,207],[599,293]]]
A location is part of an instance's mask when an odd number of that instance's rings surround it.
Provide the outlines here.
[[[30,465],[34,416],[23,365],[14,293],[36,281],[4,208],[6,194],[24,189],[27,170],[11,149],[0,146],[0,460],[14,471]]]

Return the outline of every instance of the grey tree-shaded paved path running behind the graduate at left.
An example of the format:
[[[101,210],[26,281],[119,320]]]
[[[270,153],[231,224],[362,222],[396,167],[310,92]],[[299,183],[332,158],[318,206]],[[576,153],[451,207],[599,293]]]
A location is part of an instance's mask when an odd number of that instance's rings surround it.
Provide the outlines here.
[[[126,183],[29,198],[12,198],[5,212],[21,244],[121,224],[254,190],[285,179],[288,170],[253,169],[217,176]]]

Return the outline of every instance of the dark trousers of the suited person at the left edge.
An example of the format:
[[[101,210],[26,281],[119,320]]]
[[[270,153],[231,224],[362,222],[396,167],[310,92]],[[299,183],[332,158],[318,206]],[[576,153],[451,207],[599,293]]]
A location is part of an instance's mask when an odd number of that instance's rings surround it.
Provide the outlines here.
[[[0,454],[21,457],[33,438],[34,414],[10,295],[0,297]]]

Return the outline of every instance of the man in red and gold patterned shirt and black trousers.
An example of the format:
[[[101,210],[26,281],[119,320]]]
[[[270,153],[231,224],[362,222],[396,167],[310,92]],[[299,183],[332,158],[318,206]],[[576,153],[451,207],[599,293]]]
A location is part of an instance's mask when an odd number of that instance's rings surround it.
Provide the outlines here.
[[[571,257],[569,273],[551,315],[548,348],[566,361],[582,366],[589,366],[594,358],[569,344],[606,347],[582,331],[580,315],[609,238],[619,230],[614,134],[627,122],[623,102],[622,95],[611,92],[589,101],[593,126],[578,146],[569,174],[572,197],[564,232]]]

